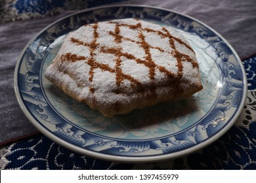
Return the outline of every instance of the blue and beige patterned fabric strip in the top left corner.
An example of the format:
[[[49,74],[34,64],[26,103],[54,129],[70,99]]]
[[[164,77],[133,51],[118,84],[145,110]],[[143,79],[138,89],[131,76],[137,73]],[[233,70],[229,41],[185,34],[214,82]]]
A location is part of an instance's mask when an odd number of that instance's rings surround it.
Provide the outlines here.
[[[125,0],[5,0],[0,1],[0,24],[15,20],[51,16],[65,10],[82,10],[121,1]]]

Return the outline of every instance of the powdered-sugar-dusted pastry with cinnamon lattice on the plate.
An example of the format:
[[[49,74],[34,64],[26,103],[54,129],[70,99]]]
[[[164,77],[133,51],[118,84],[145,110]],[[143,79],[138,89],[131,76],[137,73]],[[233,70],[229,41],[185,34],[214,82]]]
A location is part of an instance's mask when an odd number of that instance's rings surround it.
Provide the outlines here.
[[[133,18],[70,32],[45,77],[109,118],[203,88],[188,42],[171,27]]]

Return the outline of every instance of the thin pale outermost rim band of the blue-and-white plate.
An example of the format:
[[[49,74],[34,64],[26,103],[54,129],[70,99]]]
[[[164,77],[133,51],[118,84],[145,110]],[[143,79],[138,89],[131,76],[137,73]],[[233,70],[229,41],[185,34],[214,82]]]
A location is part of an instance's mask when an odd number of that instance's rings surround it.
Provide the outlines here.
[[[240,105],[239,105],[238,109],[236,110],[237,111],[236,114],[234,114],[233,118],[230,119],[230,122],[228,122],[228,124],[224,125],[224,127],[220,131],[218,131],[215,135],[209,137],[209,139],[206,139],[206,140],[204,140],[204,141],[202,141],[198,144],[195,144],[192,147],[186,148],[184,150],[180,150],[180,151],[177,151],[177,152],[171,152],[171,153],[167,153],[167,154],[158,154],[158,155],[150,155],[150,156],[116,156],[116,155],[104,154],[102,152],[95,152],[93,150],[87,150],[85,148],[75,146],[74,144],[71,144],[70,142],[66,142],[63,139],[60,139],[59,137],[56,137],[56,135],[51,133],[51,131],[49,131],[49,129],[46,129],[45,127],[43,127],[43,125],[39,124],[37,122],[37,120],[35,118],[33,118],[32,114],[30,114],[30,111],[28,110],[26,105],[23,103],[23,99],[21,97],[19,86],[18,86],[18,71],[20,69],[20,63],[22,63],[22,58],[23,58],[24,54],[26,53],[30,44],[32,44],[32,42],[37,37],[39,37],[39,35],[41,35],[41,33],[43,33],[45,30],[49,29],[54,24],[57,24],[58,22],[60,22],[62,20],[65,20],[66,18],[70,18],[72,16],[75,16],[76,14],[80,14],[80,13],[83,13],[83,12],[89,12],[89,11],[98,10],[98,9],[102,9],[102,8],[117,8],[117,7],[152,8],[152,9],[156,9],[156,10],[163,10],[163,11],[170,12],[170,13],[173,12],[175,14],[178,14],[180,16],[184,16],[184,17],[186,17],[190,20],[193,20],[193,21],[197,22],[198,24],[203,25],[203,27],[206,27],[207,29],[209,29],[209,31],[212,31],[215,35],[217,35],[218,37],[221,38],[221,40],[224,41],[224,43],[232,51],[232,54],[234,54],[235,58],[238,59],[238,63],[240,65],[242,76],[243,76],[243,80],[242,80],[242,83],[243,83],[243,85],[242,85],[242,87],[243,87],[242,88],[242,90],[243,90],[242,94],[243,95],[241,96],[242,99],[240,100]],[[211,144],[212,142],[219,139],[222,135],[224,135],[224,133],[226,133],[226,131],[228,131],[228,129],[230,129],[230,127],[232,127],[234,122],[236,122],[236,120],[240,116],[240,113],[242,112],[242,109],[244,108],[244,104],[245,104],[246,97],[247,97],[247,79],[246,79],[246,75],[245,75],[245,69],[242,65],[242,61],[240,60],[240,58],[239,58],[238,54],[236,53],[236,51],[234,50],[234,48],[232,48],[230,43],[228,41],[226,41],[226,39],[224,39],[219,33],[217,33],[217,31],[215,31],[214,29],[212,29],[208,25],[204,24],[200,20],[197,20],[196,18],[192,18],[191,16],[188,16],[186,14],[182,14],[180,12],[176,12],[175,10],[170,10],[170,9],[167,9],[167,8],[152,7],[152,6],[148,6],[148,5],[108,5],[108,6],[101,6],[101,7],[95,7],[95,8],[88,8],[88,9],[85,9],[85,10],[74,12],[74,13],[68,15],[68,16],[64,16],[63,18],[60,18],[60,19],[54,21],[52,24],[49,24],[47,27],[45,27],[41,31],[39,31],[39,33],[37,33],[37,35],[35,35],[28,42],[28,44],[24,47],[24,49],[22,50],[22,52],[21,52],[21,54],[18,58],[18,61],[16,63],[16,67],[15,67],[15,71],[14,71],[14,92],[16,93],[16,98],[18,100],[18,104],[22,108],[22,111],[24,112],[24,114],[28,118],[28,120],[30,120],[30,122],[37,129],[39,129],[39,131],[41,131],[41,133],[43,133],[44,135],[49,137],[49,139],[53,140],[54,142],[57,142],[58,144],[64,146],[65,148],[69,148],[70,150],[73,150],[74,152],[77,152],[79,154],[85,154],[86,156],[91,156],[93,158],[104,159],[104,160],[108,160],[108,161],[118,161],[118,162],[121,161],[121,162],[126,162],[126,163],[133,163],[133,162],[134,163],[138,163],[138,162],[148,163],[148,162],[153,162],[153,161],[163,161],[165,159],[171,159],[171,158],[179,158],[181,156],[191,154],[192,152],[196,152],[197,150],[200,150],[203,147]]]

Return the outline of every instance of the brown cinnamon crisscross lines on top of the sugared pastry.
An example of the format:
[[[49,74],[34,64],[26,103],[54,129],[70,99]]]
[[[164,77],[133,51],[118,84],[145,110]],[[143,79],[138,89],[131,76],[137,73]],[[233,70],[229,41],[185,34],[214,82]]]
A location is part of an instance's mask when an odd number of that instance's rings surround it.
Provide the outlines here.
[[[62,56],[62,61],[78,61],[78,60],[83,60],[85,59],[87,61],[87,64],[90,66],[90,71],[89,71],[89,81],[93,82],[93,77],[94,77],[94,73],[95,73],[95,69],[101,69],[102,71],[108,71],[110,73],[114,73],[116,75],[116,85],[117,88],[119,88],[121,82],[123,82],[123,80],[129,80],[131,82],[131,86],[137,86],[140,88],[140,81],[137,80],[136,78],[134,78],[131,75],[127,75],[125,73],[122,72],[121,70],[121,57],[125,57],[127,59],[133,59],[135,60],[138,64],[142,64],[145,67],[148,68],[148,73],[149,73],[149,78],[152,82],[152,86],[154,88],[154,78],[156,75],[156,69],[158,69],[161,73],[164,73],[167,78],[169,78],[169,80],[174,80],[175,78],[181,78],[182,76],[182,62],[184,61],[188,61],[190,63],[192,63],[193,67],[198,67],[198,63],[196,63],[193,59],[191,59],[188,55],[186,54],[182,54],[181,52],[179,52],[175,46],[175,42],[179,42],[179,44],[183,44],[184,46],[186,46],[186,48],[188,48],[189,50],[191,50],[192,52],[194,52],[192,50],[192,48],[190,48],[190,46],[188,44],[186,44],[185,42],[182,42],[181,39],[177,38],[177,37],[173,37],[171,35],[171,33],[169,33],[169,31],[165,28],[162,27],[162,31],[159,30],[154,30],[154,29],[150,29],[147,27],[142,27],[142,25],[140,24],[139,20],[137,20],[137,24],[136,25],[131,25],[131,24],[121,24],[121,23],[117,23],[117,22],[108,22],[109,24],[115,24],[115,29],[114,31],[109,31],[108,34],[112,37],[114,37],[114,41],[117,44],[120,44],[122,41],[131,41],[131,42],[135,42],[137,43],[140,48],[142,48],[146,54],[146,56],[144,57],[144,59],[139,59],[136,56],[134,56],[133,54],[129,54],[127,52],[123,52],[123,50],[120,47],[113,47],[113,48],[107,48],[106,46],[102,46],[97,42],[97,39],[99,37],[98,35],[98,23],[95,24],[91,24],[91,25],[85,25],[85,26],[91,26],[93,27],[93,41],[91,42],[84,42],[81,41],[79,39],[75,39],[74,37],[72,37],[70,39],[70,41],[72,41],[74,44],[77,45],[83,45],[83,46],[87,46],[89,47],[89,58],[86,58],[84,56],[77,56],[75,54],[71,54],[71,53],[67,53],[64,54]],[[124,37],[123,35],[121,35],[120,33],[120,28],[121,27],[127,27],[129,29],[133,29],[139,32],[139,41],[136,41],[135,39],[130,39],[127,37]],[[178,72],[177,73],[172,73],[171,71],[167,70],[165,67],[161,66],[161,65],[157,65],[153,59],[152,59],[152,55],[150,53],[150,49],[154,48],[159,50],[160,52],[167,52],[166,50],[163,50],[162,48],[158,47],[158,46],[151,46],[150,44],[148,44],[148,42],[146,42],[145,40],[145,35],[143,34],[144,32],[152,32],[152,33],[156,33],[158,35],[161,36],[161,38],[167,38],[169,40],[169,46],[172,48],[172,51],[169,53],[171,54],[175,59],[177,59],[177,65],[176,67],[178,68]],[[95,50],[100,50],[100,52],[102,53],[107,53],[107,54],[113,54],[115,56],[115,62],[116,65],[114,68],[111,68],[109,65],[104,64],[104,63],[98,63],[95,59]],[[167,60],[168,61],[168,60]],[[92,93],[95,92],[94,88],[90,88],[90,91]]]

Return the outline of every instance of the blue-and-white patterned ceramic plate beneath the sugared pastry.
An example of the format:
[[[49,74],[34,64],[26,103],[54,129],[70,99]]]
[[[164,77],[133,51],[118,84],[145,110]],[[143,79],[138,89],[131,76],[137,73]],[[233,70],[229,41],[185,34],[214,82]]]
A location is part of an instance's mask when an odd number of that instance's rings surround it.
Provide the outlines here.
[[[171,26],[186,37],[199,61],[203,90],[192,99],[108,119],[45,79],[68,32],[117,18]],[[240,58],[219,33],[178,12],[133,5],[92,8],[49,25],[24,48],[14,77],[20,106],[39,131],[75,152],[123,162],[177,158],[207,146],[234,124],[247,93]]]

